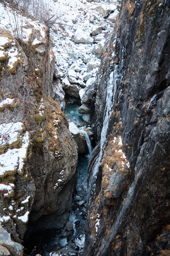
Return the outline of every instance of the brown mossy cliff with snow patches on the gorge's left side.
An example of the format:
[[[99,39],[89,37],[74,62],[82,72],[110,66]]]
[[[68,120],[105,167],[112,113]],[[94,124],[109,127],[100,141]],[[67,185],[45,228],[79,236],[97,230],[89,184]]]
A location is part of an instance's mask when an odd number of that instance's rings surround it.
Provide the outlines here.
[[[53,227],[65,225],[77,145],[51,98],[55,56],[48,28],[3,1],[0,8],[0,222],[21,243],[28,221],[46,216],[50,225],[53,214]],[[10,30],[5,17],[17,17],[17,27]],[[4,240],[0,245],[9,249]]]

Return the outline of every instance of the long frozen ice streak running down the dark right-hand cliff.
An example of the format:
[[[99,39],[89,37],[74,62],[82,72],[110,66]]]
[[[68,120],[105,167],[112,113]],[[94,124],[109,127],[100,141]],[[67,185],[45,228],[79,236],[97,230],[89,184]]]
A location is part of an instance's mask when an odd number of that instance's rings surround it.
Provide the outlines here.
[[[110,76],[108,79],[106,107],[105,107],[105,112],[104,112],[104,121],[103,121],[103,127],[102,127],[102,132],[101,132],[101,139],[100,139],[100,152],[99,152],[99,157],[97,159],[95,159],[95,165],[93,167],[92,175],[89,180],[88,195],[90,195],[91,190],[94,190],[95,177],[99,170],[100,161],[102,159],[103,146],[106,141],[108,124],[109,124],[109,120],[110,120],[114,102],[115,102],[115,94],[116,94],[116,90],[117,90],[117,80],[119,79],[119,77],[120,77],[119,65],[116,65],[114,72],[110,73]]]

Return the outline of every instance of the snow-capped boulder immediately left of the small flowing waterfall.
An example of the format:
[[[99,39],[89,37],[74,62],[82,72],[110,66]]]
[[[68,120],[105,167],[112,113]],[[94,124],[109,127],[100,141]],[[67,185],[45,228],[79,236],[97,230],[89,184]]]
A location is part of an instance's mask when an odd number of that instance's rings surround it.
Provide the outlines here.
[[[73,122],[68,123],[68,129],[71,132],[73,139],[77,143],[79,153],[86,154],[88,152],[88,148],[84,134]]]

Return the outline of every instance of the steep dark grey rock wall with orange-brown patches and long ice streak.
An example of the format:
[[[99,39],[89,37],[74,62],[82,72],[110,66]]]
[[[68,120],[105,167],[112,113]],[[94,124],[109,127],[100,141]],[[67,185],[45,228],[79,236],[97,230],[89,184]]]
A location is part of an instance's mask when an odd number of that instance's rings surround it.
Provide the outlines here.
[[[169,12],[170,1],[123,0],[105,45],[84,255],[170,253]]]

